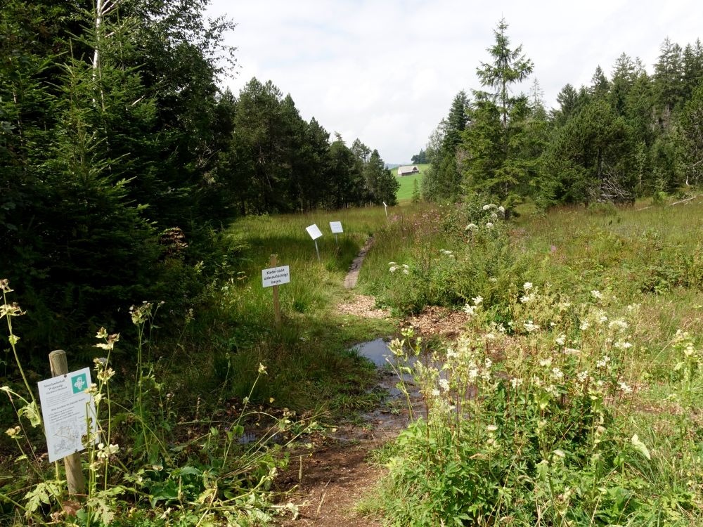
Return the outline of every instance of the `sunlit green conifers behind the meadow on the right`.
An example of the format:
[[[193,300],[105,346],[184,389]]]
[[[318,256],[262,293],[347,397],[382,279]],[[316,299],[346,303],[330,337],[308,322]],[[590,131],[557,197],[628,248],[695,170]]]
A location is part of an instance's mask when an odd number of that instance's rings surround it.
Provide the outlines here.
[[[453,200],[482,193],[505,207],[530,197],[541,207],[631,202],[701,183],[703,46],[665,39],[654,72],[622,53],[610,77],[598,66],[588,86],[566,84],[546,110],[522,46],[501,20],[482,89],[460,91],[425,151],[423,195]]]

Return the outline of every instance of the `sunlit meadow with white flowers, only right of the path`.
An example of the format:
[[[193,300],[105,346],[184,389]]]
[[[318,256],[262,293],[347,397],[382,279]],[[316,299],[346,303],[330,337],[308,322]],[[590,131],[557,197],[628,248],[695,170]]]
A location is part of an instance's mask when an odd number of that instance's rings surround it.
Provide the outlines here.
[[[703,524],[703,199],[648,204],[509,223],[441,207],[378,237],[367,292],[470,320],[456,343],[394,346],[427,408],[364,507],[407,526]]]

